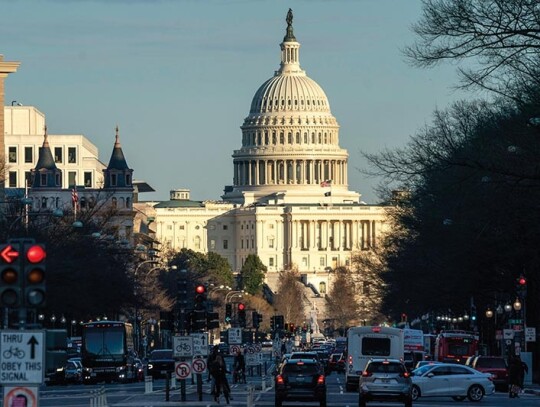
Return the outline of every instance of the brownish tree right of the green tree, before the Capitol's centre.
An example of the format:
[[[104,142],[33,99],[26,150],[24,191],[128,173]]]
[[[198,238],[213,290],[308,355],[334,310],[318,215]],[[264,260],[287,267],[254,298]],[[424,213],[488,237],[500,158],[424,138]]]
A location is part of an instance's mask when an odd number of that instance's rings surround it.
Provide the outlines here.
[[[297,270],[280,273],[274,306],[277,314],[283,315],[287,323],[299,326],[305,321],[304,291]]]

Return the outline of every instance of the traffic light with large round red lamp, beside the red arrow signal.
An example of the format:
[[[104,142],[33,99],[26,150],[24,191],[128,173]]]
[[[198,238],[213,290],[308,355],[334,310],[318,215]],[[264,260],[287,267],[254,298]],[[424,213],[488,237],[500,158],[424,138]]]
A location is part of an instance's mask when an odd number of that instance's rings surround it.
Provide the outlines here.
[[[24,305],[28,308],[45,306],[45,259],[47,252],[41,244],[23,243]]]

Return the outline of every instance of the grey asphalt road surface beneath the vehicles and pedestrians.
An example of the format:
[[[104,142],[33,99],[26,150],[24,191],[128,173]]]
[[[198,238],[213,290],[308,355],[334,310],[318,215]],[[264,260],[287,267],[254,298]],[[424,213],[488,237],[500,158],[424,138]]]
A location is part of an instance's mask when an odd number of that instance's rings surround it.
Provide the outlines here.
[[[206,377],[206,376],[204,376]],[[270,378],[267,379],[270,383]],[[333,373],[327,377],[328,393],[327,400],[328,406],[332,407],[355,407],[358,405],[358,395],[356,393],[347,393],[344,391],[344,376]],[[203,383],[203,401],[198,401],[198,395],[196,393],[196,386],[191,384],[191,380],[187,380],[186,383],[186,401],[180,401],[180,386],[171,390],[170,401],[165,401],[165,381],[156,380],[153,386],[153,392],[151,394],[145,394],[144,383],[132,383],[132,384],[108,384],[108,385],[69,385],[69,386],[54,386],[54,387],[42,387],[40,389],[40,407],[80,407],[93,405],[96,407],[108,406],[108,407],[160,407],[160,406],[223,406],[225,401],[221,399],[221,403],[217,404],[212,400],[209,384],[204,381]],[[256,407],[270,407],[274,406],[274,392],[273,389],[267,387],[265,391],[261,389],[260,377],[248,377],[248,384],[235,384],[231,385],[233,400],[231,400],[231,406],[234,407],[246,407],[248,405],[247,398],[249,395],[249,389],[255,387],[253,392],[253,406]],[[100,389],[104,390],[104,397],[106,397],[107,404],[99,404],[99,396],[96,392]],[[91,404],[93,398],[94,404]],[[104,401],[102,396],[101,401]],[[471,403],[468,401],[455,402],[451,398],[433,398],[433,399],[420,399],[414,403],[414,405],[422,407],[440,407],[440,406],[475,406],[475,407],[503,407],[509,405],[516,405],[520,407],[538,406],[540,397],[536,395],[524,394],[518,400],[509,400],[506,393],[496,393],[492,396],[485,397],[480,403]],[[285,403],[286,406],[317,406],[318,404],[310,403]],[[370,403],[368,405],[374,405],[378,407],[391,407],[399,406],[399,403]]]

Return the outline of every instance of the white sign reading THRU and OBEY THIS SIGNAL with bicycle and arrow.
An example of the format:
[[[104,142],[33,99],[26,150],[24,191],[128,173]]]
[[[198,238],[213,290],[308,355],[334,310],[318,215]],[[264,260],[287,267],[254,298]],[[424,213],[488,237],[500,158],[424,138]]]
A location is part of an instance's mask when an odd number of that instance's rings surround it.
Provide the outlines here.
[[[43,331],[0,331],[0,383],[43,383],[44,349]]]

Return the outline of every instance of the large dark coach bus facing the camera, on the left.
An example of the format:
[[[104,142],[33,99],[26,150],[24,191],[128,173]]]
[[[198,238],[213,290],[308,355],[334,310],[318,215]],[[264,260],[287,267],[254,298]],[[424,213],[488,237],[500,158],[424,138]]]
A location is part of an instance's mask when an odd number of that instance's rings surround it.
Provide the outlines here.
[[[133,327],[122,321],[82,325],[81,362],[85,384],[137,380]]]

